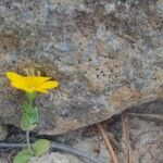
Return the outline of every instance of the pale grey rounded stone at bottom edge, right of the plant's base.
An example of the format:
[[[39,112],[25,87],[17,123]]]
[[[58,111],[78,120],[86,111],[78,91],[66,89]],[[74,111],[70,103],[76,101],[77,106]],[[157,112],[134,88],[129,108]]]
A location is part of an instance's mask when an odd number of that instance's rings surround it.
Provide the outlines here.
[[[34,158],[29,163],[84,163],[73,155],[51,153],[41,158]]]

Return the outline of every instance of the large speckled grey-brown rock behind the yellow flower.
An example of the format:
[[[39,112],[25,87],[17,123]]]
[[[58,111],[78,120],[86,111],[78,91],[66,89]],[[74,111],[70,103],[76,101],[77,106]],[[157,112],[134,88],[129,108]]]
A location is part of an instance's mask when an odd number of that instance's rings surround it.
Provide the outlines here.
[[[160,98],[162,0],[0,0],[0,121],[20,124],[7,71],[60,82],[39,95],[40,134],[61,134]]]

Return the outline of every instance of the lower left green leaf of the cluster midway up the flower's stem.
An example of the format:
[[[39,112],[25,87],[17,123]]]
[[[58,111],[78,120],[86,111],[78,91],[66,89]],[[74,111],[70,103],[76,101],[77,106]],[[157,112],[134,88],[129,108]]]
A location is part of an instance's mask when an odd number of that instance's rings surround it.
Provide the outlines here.
[[[22,120],[21,120],[21,128],[23,130],[33,130],[37,127],[37,124],[34,124],[30,122],[30,118],[27,113],[23,113]]]

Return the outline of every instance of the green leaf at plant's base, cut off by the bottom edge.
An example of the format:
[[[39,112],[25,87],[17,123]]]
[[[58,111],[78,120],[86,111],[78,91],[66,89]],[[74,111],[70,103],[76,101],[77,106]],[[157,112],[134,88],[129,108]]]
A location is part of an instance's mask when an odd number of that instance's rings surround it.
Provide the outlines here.
[[[29,149],[24,149],[14,158],[13,163],[27,163],[33,156],[35,155],[32,154]]]

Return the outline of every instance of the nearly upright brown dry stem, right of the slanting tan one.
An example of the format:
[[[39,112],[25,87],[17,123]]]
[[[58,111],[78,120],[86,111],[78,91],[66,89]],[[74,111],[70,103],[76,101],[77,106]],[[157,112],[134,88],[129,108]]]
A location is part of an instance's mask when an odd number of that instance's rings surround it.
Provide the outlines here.
[[[127,146],[127,163],[134,163],[131,148],[130,148],[128,124],[127,124],[127,118],[124,114],[122,114],[122,128],[125,138],[125,145]]]

